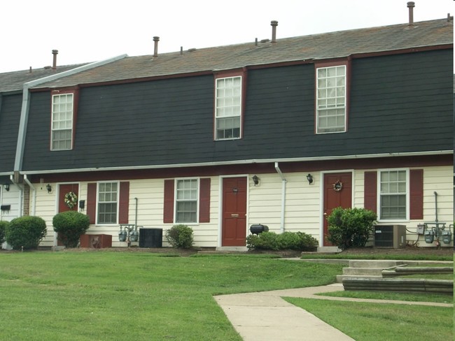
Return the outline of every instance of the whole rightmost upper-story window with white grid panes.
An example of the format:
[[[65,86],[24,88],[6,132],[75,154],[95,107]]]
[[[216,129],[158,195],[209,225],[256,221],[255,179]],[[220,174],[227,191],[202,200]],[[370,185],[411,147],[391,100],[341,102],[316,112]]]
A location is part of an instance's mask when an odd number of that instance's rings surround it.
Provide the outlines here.
[[[316,133],[346,131],[346,65],[316,68]]]

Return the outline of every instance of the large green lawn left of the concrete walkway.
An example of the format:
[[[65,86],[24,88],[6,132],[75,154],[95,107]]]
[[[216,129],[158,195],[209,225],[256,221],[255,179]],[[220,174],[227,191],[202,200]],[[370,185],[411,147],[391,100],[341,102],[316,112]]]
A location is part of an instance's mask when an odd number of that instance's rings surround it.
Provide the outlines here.
[[[213,296],[329,284],[267,256],[0,252],[1,340],[241,340]]]

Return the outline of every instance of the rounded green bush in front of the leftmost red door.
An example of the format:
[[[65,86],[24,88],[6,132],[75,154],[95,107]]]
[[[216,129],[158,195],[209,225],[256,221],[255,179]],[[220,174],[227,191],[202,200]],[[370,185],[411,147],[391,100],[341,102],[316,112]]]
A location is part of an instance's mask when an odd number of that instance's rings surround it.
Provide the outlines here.
[[[80,235],[84,234],[90,226],[90,219],[83,213],[66,211],[55,215],[52,218],[52,225],[54,231],[58,233],[58,240],[65,247],[77,247]]]

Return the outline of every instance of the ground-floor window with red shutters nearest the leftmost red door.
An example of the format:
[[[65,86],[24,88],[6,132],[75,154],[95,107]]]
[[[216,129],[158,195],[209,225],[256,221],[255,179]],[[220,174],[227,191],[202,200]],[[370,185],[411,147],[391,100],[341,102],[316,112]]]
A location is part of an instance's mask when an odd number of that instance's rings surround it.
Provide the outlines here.
[[[98,224],[117,224],[118,182],[98,183]]]

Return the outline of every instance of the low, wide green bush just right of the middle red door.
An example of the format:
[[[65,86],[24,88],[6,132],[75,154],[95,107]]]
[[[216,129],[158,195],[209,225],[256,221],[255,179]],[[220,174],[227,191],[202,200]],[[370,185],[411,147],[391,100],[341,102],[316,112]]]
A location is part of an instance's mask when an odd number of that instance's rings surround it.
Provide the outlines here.
[[[246,237],[248,249],[283,250],[293,249],[297,251],[313,250],[318,246],[318,241],[304,232],[262,232],[258,235]]]

